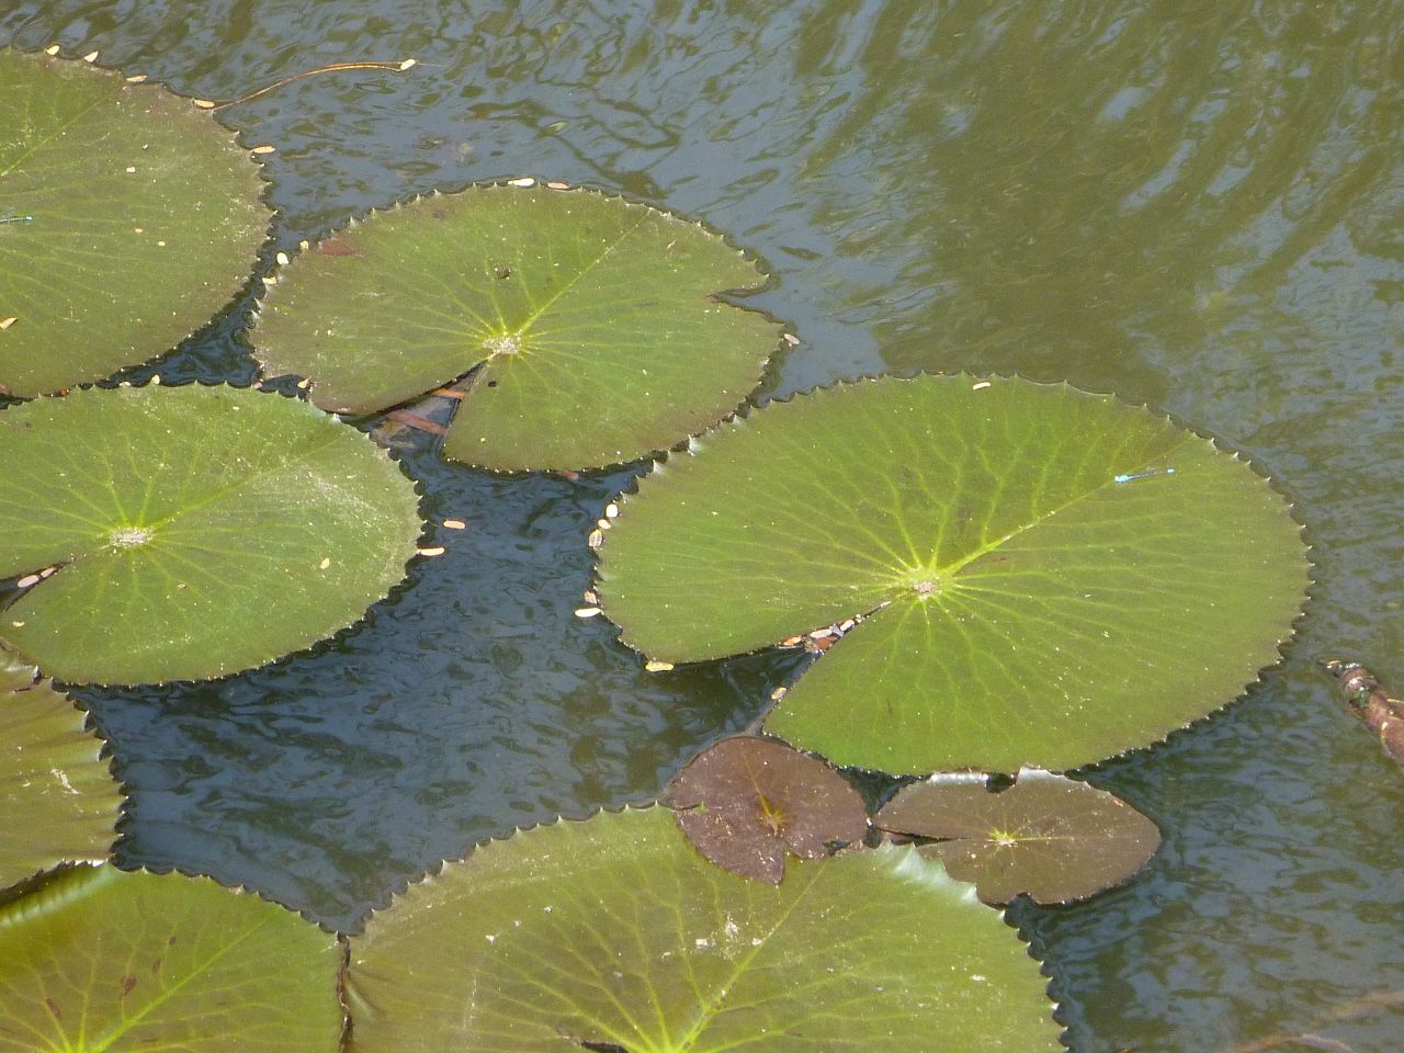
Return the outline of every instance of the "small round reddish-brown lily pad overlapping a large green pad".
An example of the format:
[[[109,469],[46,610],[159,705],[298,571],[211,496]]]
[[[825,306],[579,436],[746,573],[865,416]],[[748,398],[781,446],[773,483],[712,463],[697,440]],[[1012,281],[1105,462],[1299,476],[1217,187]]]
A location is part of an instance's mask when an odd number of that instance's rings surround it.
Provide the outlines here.
[[[723,739],[673,786],[678,827],[717,866],[778,885],[786,852],[820,859],[862,841],[868,809],[848,781],[785,743]]]

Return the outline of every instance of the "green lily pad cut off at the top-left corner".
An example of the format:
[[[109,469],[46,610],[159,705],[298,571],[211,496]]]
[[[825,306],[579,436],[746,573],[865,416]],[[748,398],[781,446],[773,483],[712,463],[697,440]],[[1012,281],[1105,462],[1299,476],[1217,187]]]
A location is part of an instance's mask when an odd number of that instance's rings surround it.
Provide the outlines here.
[[[161,355],[249,279],[258,166],[188,98],[0,49],[0,393]]]

